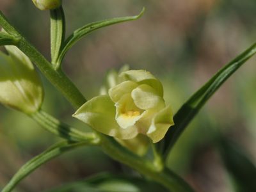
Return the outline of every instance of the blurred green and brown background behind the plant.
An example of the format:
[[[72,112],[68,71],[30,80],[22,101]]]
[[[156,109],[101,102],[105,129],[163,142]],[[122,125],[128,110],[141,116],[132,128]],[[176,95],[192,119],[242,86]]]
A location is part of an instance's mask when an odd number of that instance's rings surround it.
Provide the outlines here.
[[[254,0],[63,0],[67,34],[88,22],[136,15],[140,20],[100,29],[67,54],[63,67],[87,99],[98,94],[110,68],[129,64],[161,79],[164,97],[177,111],[225,63],[256,40]],[[1,0],[1,11],[49,58],[49,12],[29,0]],[[197,191],[233,191],[232,180],[216,150],[216,135],[236,141],[256,162],[256,65],[248,61],[212,97],[182,134],[168,166]],[[74,111],[42,77],[43,109],[81,129]],[[217,133],[217,134],[216,134]],[[28,159],[58,141],[26,115],[0,106],[0,186]],[[45,164],[17,191],[42,191],[98,172],[131,172],[99,148],[80,148]],[[256,180],[256,178],[255,178]],[[255,189],[256,191],[256,189]]]

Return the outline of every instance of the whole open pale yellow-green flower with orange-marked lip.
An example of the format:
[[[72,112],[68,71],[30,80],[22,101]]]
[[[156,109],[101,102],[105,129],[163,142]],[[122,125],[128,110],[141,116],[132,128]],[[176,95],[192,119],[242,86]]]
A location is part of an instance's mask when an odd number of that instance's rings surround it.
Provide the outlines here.
[[[73,115],[99,132],[119,140],[138,134],[156,143],[173,125],[172,110],[163,99],[163,86],[150,72],[111,73],[108,94],[89,100]]]

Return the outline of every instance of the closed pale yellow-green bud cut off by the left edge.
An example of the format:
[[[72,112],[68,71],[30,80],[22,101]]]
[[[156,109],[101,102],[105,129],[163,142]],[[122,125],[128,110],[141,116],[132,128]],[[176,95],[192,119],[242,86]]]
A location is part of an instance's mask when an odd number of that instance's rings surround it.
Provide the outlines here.
[[[43,100],[40,78],[29,58],[15,46],[0,51],[0,102],[24,113],[37,111]]]

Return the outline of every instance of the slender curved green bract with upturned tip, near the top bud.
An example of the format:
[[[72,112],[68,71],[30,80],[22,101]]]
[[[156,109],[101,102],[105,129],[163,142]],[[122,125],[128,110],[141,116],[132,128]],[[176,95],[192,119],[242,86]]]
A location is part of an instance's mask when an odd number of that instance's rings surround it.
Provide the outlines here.
[[[91,33],[92,31],[95,31],[100,28],[104,28],[106,26],[111,26],[113,24],[118,24],[120,22],[130,21],[130,20],[136,20],[139,19],[145,11],[145,8],[141,11],[139,15],[132,16],[132,17],[118,17],[108,20],[102,20],[98,22],[93,22],[90,24],[87,24],[86,26],[83,26],[82,28],[76,29],[72,35],[70,35],[67,40],[65,41],[65,44],[63,45],[63,49],[60,52],[60,56],[58,57],[58,63],[61,63],[63,60],[65,54],[67,51],[76,44],[77,41],[79,41],[81,38],[86,36],[88,33]],[[60,64],[59,64],[60,65]]]

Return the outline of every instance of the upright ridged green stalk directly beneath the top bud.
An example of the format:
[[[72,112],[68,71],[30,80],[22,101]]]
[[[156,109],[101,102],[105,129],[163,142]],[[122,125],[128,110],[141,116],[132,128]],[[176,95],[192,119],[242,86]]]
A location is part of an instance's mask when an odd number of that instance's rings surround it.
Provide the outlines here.
[[[62,6],[56,10],[51,10],[51,58],[54,68],[61,51],[61,45],[65,41],[65,15]]]

